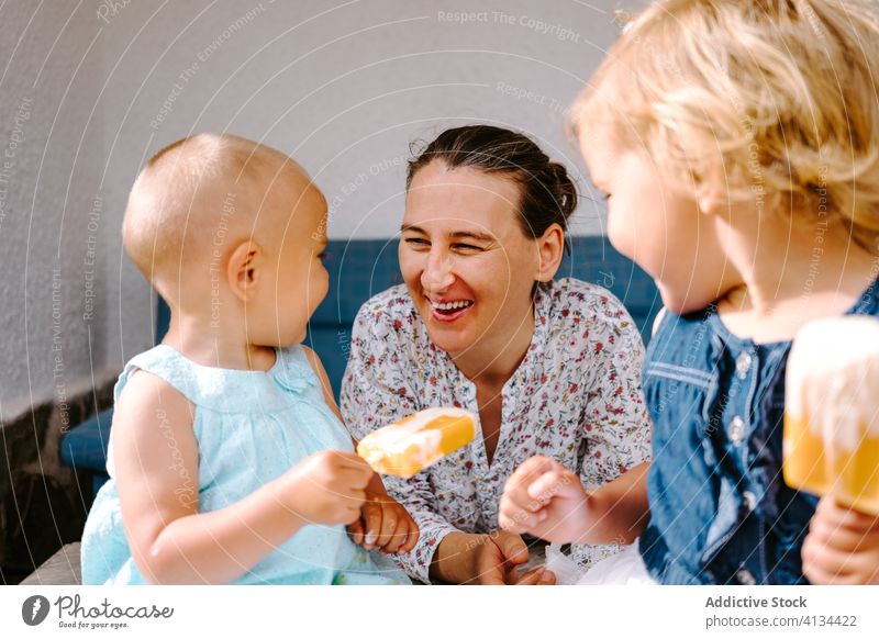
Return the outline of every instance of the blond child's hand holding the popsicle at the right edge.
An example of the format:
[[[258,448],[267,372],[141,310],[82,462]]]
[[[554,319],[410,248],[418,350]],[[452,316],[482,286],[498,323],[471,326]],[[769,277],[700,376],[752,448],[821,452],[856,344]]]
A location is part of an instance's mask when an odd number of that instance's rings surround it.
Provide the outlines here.
[[[803,573],[814,584],[879,583],[879,517],[823,497],[802,548]]]

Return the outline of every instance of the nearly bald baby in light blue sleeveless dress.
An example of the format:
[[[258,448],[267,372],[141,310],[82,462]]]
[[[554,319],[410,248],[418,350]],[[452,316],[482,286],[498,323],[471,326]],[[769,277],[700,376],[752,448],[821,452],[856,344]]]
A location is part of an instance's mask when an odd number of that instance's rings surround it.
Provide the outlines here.
[[[116,384],[84,583],[409,583],[352,540],[408,551],[418,528],[300,344],[327,291],[325,227],[302,169],[240,137],[182,139],[140,175],[124,246],[171,321]]]

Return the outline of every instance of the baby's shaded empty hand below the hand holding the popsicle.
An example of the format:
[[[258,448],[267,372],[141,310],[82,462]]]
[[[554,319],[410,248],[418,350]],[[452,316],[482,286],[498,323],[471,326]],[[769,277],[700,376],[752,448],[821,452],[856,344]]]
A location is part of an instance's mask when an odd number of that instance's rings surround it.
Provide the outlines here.
[[[409,512],[393,497],[367,493],[360,518],[348,526],[355,543],[367,550],[410,552],[419,540],[419,527]]]

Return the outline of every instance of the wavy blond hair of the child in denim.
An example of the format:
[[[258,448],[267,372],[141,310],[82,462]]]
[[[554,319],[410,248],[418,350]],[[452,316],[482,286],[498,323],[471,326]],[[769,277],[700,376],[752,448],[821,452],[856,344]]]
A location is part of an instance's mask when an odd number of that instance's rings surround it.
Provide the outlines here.
[[[670,180],[879,237],[879,19],[868,0],[658,0],[571,110]]]

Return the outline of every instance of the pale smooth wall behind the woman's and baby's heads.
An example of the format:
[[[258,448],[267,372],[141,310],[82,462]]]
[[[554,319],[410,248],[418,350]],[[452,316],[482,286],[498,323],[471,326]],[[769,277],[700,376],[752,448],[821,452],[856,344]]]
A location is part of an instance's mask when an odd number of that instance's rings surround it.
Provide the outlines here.
[[[615,38],[616,3],[131,3],[107,26],[113,181],[192,131],[229,130],[301,160],[334,204],[332,237],[374,238],[399,227],[410,142],[452,125],[524,130],[579,175],[563,111]],[[594,208],[577,231],[600,232]]]

